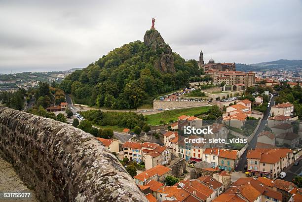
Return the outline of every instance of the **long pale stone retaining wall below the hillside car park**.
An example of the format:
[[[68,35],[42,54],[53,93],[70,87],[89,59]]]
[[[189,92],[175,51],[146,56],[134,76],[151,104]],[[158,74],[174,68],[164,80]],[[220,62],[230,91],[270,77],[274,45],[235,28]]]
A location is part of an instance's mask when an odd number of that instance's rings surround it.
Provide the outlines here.
[[[207,106],[207,101],[153,101],[153,109],[166,109],[166,108],[185,108]]]

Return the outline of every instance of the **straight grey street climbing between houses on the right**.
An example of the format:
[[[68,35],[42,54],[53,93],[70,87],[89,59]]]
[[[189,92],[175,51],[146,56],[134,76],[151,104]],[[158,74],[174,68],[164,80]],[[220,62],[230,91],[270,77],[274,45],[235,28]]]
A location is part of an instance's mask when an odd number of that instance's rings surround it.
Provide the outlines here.
[[[247,163],[247,159],[246,159],[247,151],[250,149],[255,149],[256,144],[257,144],[257,135],[264,130],[265,124],[267,124],[267,118],[268,118],[268,115],[270,112],[270,107],[272,106],[273,102],[274,102],[274,98],[271,99],[270,106],[267,107],[266,111],[264,112],[263,119],[261,120],[260,126],[259,126],[256,134],[254,135],[252,140],[249,142],[248,148],[242,154],[241,159],[239,160],[238,166],[235,169],[236,171],[245,171],[244,168]]]

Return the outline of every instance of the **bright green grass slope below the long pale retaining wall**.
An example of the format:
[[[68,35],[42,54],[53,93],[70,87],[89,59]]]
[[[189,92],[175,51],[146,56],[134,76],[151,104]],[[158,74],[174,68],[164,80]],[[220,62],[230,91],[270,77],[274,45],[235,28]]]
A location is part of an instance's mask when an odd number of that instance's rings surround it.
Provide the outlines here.
[[[195,114],[202,114],[210,110],[211,107],[209,106],[201,106],[201,107],[194,107],[194,108],[186,108],[186,109],[174,109],[174,110],[167,110],[163,111],[158,114],[151,114],[145,116],[147,118],[147,124],[151,126],[160,125],[160,121],[162,120],[164,123],[168,123],[171,119],[173,121],[177,120],[177,117],[181,115],[193,116]]]

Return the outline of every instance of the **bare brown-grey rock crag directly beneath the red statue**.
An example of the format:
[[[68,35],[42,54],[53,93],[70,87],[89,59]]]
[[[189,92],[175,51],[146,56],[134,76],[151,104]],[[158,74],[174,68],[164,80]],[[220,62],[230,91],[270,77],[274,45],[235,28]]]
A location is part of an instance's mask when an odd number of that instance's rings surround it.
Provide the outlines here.
[[[164,73],[175,73],[172,49],[165,43],[157,30],[148,30],[144,36],[144,43],[160,56],[154,61],[154,67]]]

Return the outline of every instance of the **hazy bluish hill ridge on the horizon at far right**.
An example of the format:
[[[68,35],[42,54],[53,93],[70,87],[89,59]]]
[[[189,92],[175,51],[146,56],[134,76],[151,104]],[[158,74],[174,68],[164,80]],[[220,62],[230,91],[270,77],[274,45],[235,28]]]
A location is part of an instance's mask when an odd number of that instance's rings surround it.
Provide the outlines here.
[[[296,70],[297,68],[302,68],[302,60],[276,60],[250,65],[240,63],[236,64],[236,70],[238,71],[270,71],[280,68],[287,70]]]

